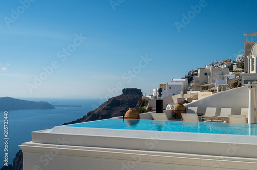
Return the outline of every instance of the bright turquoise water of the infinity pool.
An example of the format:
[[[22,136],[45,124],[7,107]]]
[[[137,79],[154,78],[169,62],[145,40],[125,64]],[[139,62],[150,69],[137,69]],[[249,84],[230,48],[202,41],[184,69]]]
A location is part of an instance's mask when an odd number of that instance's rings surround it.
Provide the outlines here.
[[[65,125],[84,128],[111,128],[131,130],[178,131],[187,133],[257,135],[256,124],[216,123],[216,122],[182,122],[134,119],[104,119]]]

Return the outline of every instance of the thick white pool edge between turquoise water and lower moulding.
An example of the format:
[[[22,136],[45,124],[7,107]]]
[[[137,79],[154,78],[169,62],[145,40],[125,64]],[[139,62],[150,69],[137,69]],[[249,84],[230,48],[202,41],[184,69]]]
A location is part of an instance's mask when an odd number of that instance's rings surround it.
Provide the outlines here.
[[[107,129],[109,134],[105,134],[102,129],[88,128],[87,134],[69,134],[69,133],[50,133],[50,130],[41,130],[32,132],[32,143],[54,144],[54,145],[70,145],[82,147],[99,147],[99,148],[115,148],[115,149],[132,149],[132,150],[149,150],[155,152],[174,152],[186,154],[201,154],[213,156],[233,156],[244,158],[257,158],[254,152],[257,147],[256,143],[238,142],[238,135],[219,135],[219,134],[200,134],[201,137],[207,136],[216,139],[215,141],[203,141],[203,139],[195,136],[194,133],[176,133],[144,130],[119,130]],[[98,135],[96,132],[98,131]],[[118,132],[119,131],[119,132]],[[131,131],[130,135],[127,134]],[[132,137],[132,131],[137,132],[137,137]],[[140,132],[139,132],[140,131]],[[89,133],[90,132],[90,133]],[[117,134],[118,133],[118,134]],[[121,134],[123,133],[123,134]],[[129,132],[128,132],[129,133]],[[167,134],[170,134],[167,137]],[[135,134],[134,134],[135,135]],[[142,135],[141,137],[139,137]],[[199,134],[198,134],[199,135]],[[190,140],[190,138],[197,140]],[[217,140],[228,138],[230,140]],[[241,136],[242,138],[242,136]],[[257,137],[249,136],[247,140],[257,141]]]

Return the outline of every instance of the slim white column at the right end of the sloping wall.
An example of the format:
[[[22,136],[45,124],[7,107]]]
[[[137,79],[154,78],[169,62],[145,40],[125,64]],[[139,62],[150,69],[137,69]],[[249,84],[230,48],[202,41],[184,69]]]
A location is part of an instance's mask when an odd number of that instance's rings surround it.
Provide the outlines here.
[[[249,105],[248,105],[248,123],[254,123],[254,92],[255,87],[250,85],[250,82],[248,84],[249,89]]]

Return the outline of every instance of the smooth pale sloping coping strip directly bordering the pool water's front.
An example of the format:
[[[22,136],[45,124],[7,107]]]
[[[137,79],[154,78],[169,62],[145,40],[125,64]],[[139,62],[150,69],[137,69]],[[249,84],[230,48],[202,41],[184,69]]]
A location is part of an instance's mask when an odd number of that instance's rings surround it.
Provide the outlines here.
[[[109,128],[88,128],[56,126],[49,133],[70,134],[70,135],[94,135],[110,137],[130,137],[130,138],[155,138],[166,140],[186,140],[205,142],[228,142],[256,144],[257,136],[253,135],[228,135],[228,134],[208,134],[208,133],[186,133],[177,131],[154,131],[154,130],[131,130],[131,129],[109,129]]]

